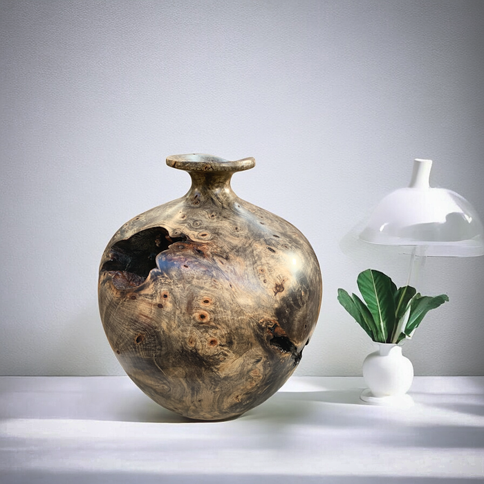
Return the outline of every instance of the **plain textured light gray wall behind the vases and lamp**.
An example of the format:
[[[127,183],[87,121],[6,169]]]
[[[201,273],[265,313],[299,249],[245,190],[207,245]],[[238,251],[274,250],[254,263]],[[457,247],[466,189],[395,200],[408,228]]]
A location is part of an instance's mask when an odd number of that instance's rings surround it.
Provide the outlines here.
[[[129,218],[185,194],[175,153],[254,156],[234,190],[306,234],[325,281],[299,375],[359,375],[337,303],[409,257],[353,240],[433,158],[484,217],[484,1],[1,1],[3,375],[118,375],[97,266]],[[353,232],[351,232],[353,230]],[[404,346],[418,375],[484,374],[484,257],[429,259],[447,292]]]

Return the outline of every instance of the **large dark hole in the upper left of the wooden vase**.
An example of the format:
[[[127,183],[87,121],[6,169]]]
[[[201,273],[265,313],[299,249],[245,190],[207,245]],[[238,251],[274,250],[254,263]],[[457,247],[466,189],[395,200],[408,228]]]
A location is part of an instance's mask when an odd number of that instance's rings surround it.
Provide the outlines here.
[[[156,256],[167,250],[175,242],[186,241],[185,235],[171,238],[164,227],[142,230],[111,247],[111,261],[103,264],[102,270],[117,271],[113,283],[118,289],[139,286],[148,277],[151,269],[156,268]]]

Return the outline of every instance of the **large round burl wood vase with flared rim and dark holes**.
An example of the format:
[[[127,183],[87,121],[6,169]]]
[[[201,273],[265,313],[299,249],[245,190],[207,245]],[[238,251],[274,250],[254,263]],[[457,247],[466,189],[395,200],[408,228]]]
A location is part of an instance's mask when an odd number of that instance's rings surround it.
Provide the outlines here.
[[[239,416],[295,371],[322,299],[317,258],[279,216],[230,187],[253,158],[167,158],[192,187],[134,217],[100,264],[99,305],[116,357],[149,397],[189,418]]]

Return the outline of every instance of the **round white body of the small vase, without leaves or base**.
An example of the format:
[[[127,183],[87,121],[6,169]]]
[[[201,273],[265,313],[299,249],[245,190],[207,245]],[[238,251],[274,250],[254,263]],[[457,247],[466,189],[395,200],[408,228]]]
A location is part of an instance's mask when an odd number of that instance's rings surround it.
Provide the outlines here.
[[[378,351],[363,362],[363,377],[376,398],[401,396],[409,391],[413,380],[411,361],[402,355],[402,347],[377,343]]]

